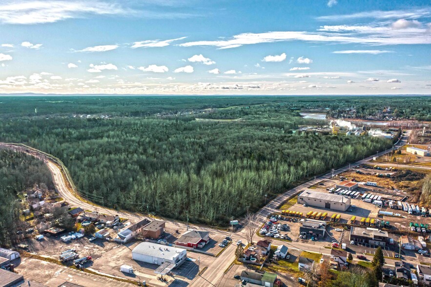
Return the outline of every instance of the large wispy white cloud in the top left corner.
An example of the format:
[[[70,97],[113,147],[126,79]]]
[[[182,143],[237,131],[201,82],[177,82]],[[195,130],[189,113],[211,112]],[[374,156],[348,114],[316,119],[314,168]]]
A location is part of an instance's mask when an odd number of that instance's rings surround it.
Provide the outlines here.
[[[115,15],[131,13],[119,4],[94,1],[28,0],[2,1],[0,22],[7,24],[38,24],[84,17],[88,14]]]

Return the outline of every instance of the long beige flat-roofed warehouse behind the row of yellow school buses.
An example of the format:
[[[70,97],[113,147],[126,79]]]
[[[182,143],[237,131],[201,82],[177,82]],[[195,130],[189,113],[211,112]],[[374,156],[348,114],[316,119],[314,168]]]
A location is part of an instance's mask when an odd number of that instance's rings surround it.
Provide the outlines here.
[[[329,208],[332,210],[346,211],[350,207],[350,198],[347,196],[306,189],[298,195],[298,203]]]

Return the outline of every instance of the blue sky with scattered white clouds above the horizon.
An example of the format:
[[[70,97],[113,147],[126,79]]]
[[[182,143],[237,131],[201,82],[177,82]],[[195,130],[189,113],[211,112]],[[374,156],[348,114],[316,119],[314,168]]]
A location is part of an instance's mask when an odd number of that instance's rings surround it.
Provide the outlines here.
[[[0,0],[0,94],[431,94],[429,0]]]

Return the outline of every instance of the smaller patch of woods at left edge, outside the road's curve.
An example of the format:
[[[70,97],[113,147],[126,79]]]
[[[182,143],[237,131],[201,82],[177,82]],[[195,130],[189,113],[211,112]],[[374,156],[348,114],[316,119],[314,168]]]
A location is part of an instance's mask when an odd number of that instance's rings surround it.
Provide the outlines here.
[[[22,224],[18,194],[35,184],[53,188],[51,173],[40,160],[0,149],[0,245],[10,245]],[[22,197],[21,197],[22,198]]]

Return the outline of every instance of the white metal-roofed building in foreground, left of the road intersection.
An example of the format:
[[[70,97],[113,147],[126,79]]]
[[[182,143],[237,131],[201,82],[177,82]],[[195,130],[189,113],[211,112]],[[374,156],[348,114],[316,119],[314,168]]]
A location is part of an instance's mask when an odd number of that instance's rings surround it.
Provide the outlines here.
[[[132,251],[132,259],[162,265],[165,262],[179,266],[187,258],[187,250],[161,244],[143,242]],[[174,267],[175,267],[174,266]]]

